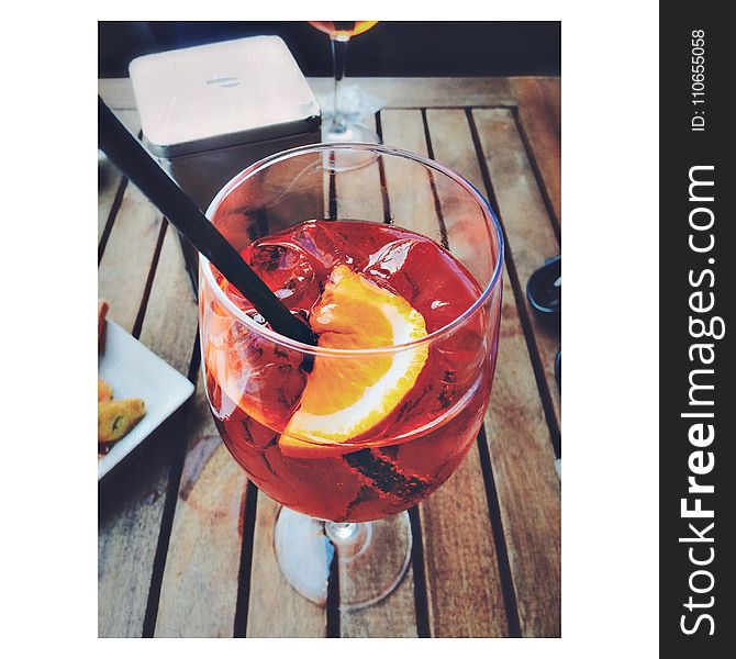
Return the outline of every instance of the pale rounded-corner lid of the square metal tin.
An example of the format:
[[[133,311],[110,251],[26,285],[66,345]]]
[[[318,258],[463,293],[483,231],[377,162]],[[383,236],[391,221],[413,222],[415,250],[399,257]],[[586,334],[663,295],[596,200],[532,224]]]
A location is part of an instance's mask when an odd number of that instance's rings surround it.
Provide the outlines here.
[[[309,133],[320,105],[278,36],[144,55],[129,67],[148,148],[172,158]]]

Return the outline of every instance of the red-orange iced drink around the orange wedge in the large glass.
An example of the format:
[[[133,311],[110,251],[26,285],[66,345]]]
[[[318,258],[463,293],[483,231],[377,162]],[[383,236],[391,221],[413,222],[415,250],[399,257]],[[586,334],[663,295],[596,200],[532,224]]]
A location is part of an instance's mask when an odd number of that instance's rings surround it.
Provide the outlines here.
[[[422,315],[427,335],[461,316],[482,292],[449,252],[387,224],[305,222],[252,243],[242,255],[308,321],[314,321],[336,269],[349,268],[405,300]],[[216,271],[215,280],[228,300],[264,324]],[[395,406],[341,442],[285,435],[315,377],[315,360],[331,357],[305,359],[235,322],[208,287],[201,287],[200,304],[207,391],[220,433],[255,484],[292,510],[335,522],[401,512],[436,490],[477,437],[495,364],[500,295],[428,342],[421,371]],[[341,364],[349,373],[349,360]],[[324,395],[338,395],[341,387],[335,379],[334,391]]]

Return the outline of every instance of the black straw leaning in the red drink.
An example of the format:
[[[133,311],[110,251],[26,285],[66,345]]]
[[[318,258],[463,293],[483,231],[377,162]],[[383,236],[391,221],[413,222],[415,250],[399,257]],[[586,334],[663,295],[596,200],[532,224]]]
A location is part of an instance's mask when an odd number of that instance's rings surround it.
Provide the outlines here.
[[[316,345],[310,327],[291,314],[99,96],[98,102],[98,144],[118,168],[256,308],[275,332]]]

